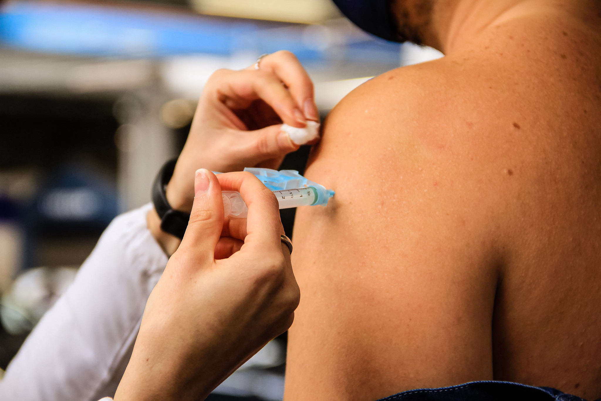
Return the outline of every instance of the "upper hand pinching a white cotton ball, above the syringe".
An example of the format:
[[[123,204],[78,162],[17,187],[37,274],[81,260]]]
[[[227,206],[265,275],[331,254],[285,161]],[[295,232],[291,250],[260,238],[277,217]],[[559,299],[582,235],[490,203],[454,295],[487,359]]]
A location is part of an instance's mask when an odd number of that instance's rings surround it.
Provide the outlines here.
[[[169,204],[185,212],[192,209],[191,177],[198,168],[221,173],[278,168],[298,148],[280,124],[305,127],[307,120],[319,120],[313,82],[292,53],[267,55],[259,69],[216,71],[203,89],[167,187]]]

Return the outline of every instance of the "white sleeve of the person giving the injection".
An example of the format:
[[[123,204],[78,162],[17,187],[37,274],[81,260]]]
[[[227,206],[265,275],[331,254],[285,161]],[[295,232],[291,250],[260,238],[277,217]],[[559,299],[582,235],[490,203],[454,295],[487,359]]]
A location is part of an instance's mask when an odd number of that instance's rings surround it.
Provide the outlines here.
[[[73,284],[8,365],[0,400],[114,396],[167,257],[146,226],[151,206],[115,218]]]

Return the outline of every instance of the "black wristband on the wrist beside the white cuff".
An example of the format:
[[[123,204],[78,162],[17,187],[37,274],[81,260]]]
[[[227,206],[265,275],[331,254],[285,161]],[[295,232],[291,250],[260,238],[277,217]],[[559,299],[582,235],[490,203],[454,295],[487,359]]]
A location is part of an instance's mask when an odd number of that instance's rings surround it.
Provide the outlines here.
[[[160,229],[165,231],[165,233],[182,239],[188,227],[190,215],[180,210],[172,209],[165,195],[167,184],[171,180],[171,176],[173,176],[176,162],[177,159],[169,160],[160,168],[159,174],[154,179],[152,186],[152,201],[154,209],[160,218]]]

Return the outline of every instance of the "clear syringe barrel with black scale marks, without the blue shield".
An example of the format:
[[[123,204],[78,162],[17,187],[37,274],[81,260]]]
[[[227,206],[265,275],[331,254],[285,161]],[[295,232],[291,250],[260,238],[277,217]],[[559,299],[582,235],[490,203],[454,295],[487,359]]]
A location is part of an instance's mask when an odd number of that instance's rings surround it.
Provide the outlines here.
[[[311,206],[320,202],[319,192],[313,186],[306,188],[281,189],[273,191],[278,199],[279,209],[288,209],[288,207]],[[328,193],[328,198],[334,195],[334,191]],[[325,195],[325,194],[324,194]],[[248,207],[242,200],[240,192],[222,191],[221,197],[224,200],[225,216],[246,218],[248,216]],[[323,197],[323,195],[322,195]],[[327,203],[327,200],[326,200]]]

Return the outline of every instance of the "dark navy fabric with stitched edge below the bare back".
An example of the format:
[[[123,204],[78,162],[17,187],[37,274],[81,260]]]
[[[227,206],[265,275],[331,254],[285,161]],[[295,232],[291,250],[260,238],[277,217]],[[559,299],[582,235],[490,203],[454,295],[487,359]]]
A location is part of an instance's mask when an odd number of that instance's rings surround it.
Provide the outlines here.
[[[562,393],[555,388],[532,387],[524,384],[481,381],[443,388],[420,388],[403,391],[379,401],[586,401]],[[601,401],[601,399],[597,400]]]

